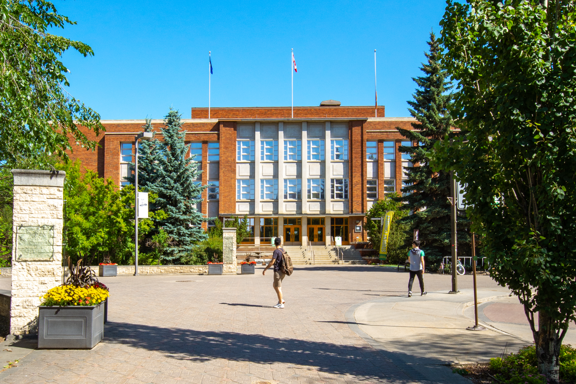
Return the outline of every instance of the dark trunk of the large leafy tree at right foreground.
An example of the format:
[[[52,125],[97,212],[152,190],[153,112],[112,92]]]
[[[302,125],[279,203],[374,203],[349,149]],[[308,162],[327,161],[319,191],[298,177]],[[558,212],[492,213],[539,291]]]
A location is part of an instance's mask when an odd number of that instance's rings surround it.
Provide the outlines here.
[[[559,356],[562,339],[556,323],[547,313],[538,313],[538,330],[534,332],[538,371],[545,375],[550,384],[558,384],[560,371]]]

